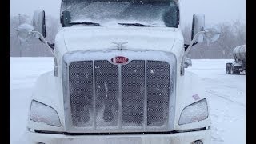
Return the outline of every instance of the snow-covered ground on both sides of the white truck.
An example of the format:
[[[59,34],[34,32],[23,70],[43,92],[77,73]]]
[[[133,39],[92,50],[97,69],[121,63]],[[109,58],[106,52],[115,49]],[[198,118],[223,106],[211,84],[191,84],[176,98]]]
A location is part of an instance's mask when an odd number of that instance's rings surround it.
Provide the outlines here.
[[[210,98],[213,144],[246,143],[246,75],[227,75],[225,63],[192,60]],[[29,98],[40,74],[54,69],[53,58],[10,58],[10,144],[24,142]]]

